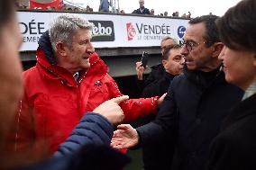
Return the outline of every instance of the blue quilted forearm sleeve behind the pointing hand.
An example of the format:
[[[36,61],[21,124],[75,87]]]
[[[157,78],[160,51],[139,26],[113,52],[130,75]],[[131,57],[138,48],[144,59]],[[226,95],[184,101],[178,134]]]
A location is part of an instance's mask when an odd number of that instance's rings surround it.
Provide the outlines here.
[[[82,146],[109,146],[113,136],[113,126],[100,114],[88,112],[72,131],[69,138],[59,146],[53,157],[63,157],[76,152]]]

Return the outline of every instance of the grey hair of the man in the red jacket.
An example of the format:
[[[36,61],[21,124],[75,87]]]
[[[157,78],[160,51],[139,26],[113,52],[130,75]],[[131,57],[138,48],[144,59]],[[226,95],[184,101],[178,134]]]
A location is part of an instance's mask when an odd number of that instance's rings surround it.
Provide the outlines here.
[[[56,43],[61,41],[69,47],[72,44],[73,35],[79,29],[92,30],[94,24],[73,14],[63,14],[50,23],[49,36],[51,47],[56,51]]]

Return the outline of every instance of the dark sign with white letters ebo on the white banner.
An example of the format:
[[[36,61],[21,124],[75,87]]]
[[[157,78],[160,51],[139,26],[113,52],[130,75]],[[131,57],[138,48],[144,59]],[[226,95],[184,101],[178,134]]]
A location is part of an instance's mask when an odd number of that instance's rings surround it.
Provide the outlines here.
[[[95,24],[92,30],[92,40],[96,41],[114,41],[114,23],[111,21],[89,21]]]

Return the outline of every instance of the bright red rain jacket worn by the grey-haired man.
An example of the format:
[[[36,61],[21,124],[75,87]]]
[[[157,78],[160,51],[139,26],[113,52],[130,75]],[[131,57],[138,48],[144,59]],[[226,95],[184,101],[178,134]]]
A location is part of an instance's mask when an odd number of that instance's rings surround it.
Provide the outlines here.
[[[11,136],[15,150],[43,142],[54,152],[86,112],[123,94],[96,53],[90,57],[91,66],[80,74],[78,83],[67,69],[51,65],[42,49],[36,55],[36,66],[23,73],[25,91]],[[156,113],[157,99],[130,99],[120,103],[124,121]]]

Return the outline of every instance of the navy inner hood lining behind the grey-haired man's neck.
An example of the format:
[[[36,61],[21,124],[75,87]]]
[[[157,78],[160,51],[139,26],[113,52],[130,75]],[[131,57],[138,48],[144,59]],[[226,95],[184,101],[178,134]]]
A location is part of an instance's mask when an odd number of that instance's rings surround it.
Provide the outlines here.
[[[49,60],[51,65],[56,65],[56,58],[54,58],[53,49],[50,43],[49,31],[45,31],[38,42],[39,48],[43,50],[45,57]]]

